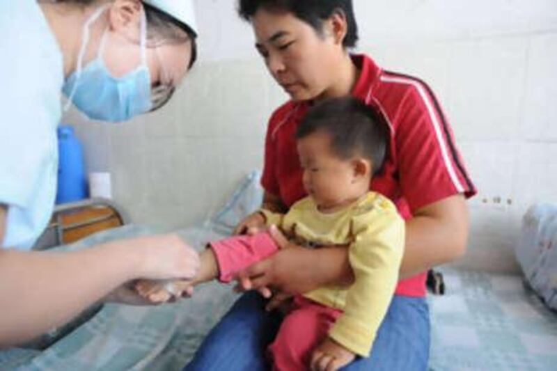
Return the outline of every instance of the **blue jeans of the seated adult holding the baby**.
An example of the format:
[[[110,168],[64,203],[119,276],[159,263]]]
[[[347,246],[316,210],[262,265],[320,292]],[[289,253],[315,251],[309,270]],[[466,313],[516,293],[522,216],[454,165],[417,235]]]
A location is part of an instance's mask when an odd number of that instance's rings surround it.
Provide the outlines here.
[[[265,312],[257,292],[244,294],[212,329],[185,371],[270,370],[265,356],[282,317]],[[369,358],[356,358],[343,370],[427,370],[430,315],[424,298],[395,295],[379,327]]]

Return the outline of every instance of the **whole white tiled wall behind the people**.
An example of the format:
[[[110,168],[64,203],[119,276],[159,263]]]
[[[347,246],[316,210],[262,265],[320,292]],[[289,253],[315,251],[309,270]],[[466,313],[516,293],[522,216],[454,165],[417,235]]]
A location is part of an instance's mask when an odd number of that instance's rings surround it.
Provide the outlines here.
[[[228,18],[230,1],[196,3],[201,63],[168,106],[120,125],[67,118],[77,123],[88,167],[111,171],[113,194],[137,223],[178,228],[205,219],[261,167],[267,118],[285,101],[253,52],[249,27]],[[356,0],[361,49],[430,83],[479,189],[469,252],[457,264],[516,270],[521,215],[533,202],[557,202],[555,1],[373,3]],[[435,15],[444,20],[430,24]],[[207,28],[215,22],[219,28]]]

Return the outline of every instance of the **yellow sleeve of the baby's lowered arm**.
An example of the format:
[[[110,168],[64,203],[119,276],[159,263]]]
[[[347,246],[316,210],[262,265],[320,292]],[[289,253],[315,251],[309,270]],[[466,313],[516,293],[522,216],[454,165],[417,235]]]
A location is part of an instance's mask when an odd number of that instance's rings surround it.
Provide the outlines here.
[[[348,289],[343,315],[329,332],[327,346],[344,347],[369,356],[398,282],[405,242],[405,225],[395,211],[372,210],[352,223],[354,243],[349,259],[354,284]],[[322,352],[318,347],[315,352]]]

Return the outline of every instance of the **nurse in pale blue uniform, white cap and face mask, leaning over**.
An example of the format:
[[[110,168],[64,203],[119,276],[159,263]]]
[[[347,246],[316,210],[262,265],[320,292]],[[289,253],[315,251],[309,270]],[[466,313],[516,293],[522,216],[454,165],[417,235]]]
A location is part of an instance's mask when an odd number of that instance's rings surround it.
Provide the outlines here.
[[[195,61],[193,0],[0,1],[0,348],[111,298],[136,278],[194,276],[176,235],[32,252],[54,207],[61,94],[119,122],[159,109]]]

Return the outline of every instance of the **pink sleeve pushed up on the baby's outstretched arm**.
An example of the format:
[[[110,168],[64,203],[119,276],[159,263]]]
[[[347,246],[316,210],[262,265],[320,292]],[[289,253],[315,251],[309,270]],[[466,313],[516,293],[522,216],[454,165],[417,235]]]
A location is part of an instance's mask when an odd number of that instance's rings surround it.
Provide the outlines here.
[[[219,239],[210,242],[209,246],[217,258],[219,281],[223,283],[229,283],[238,271],[278,251],[278,246],[268,232]]]

